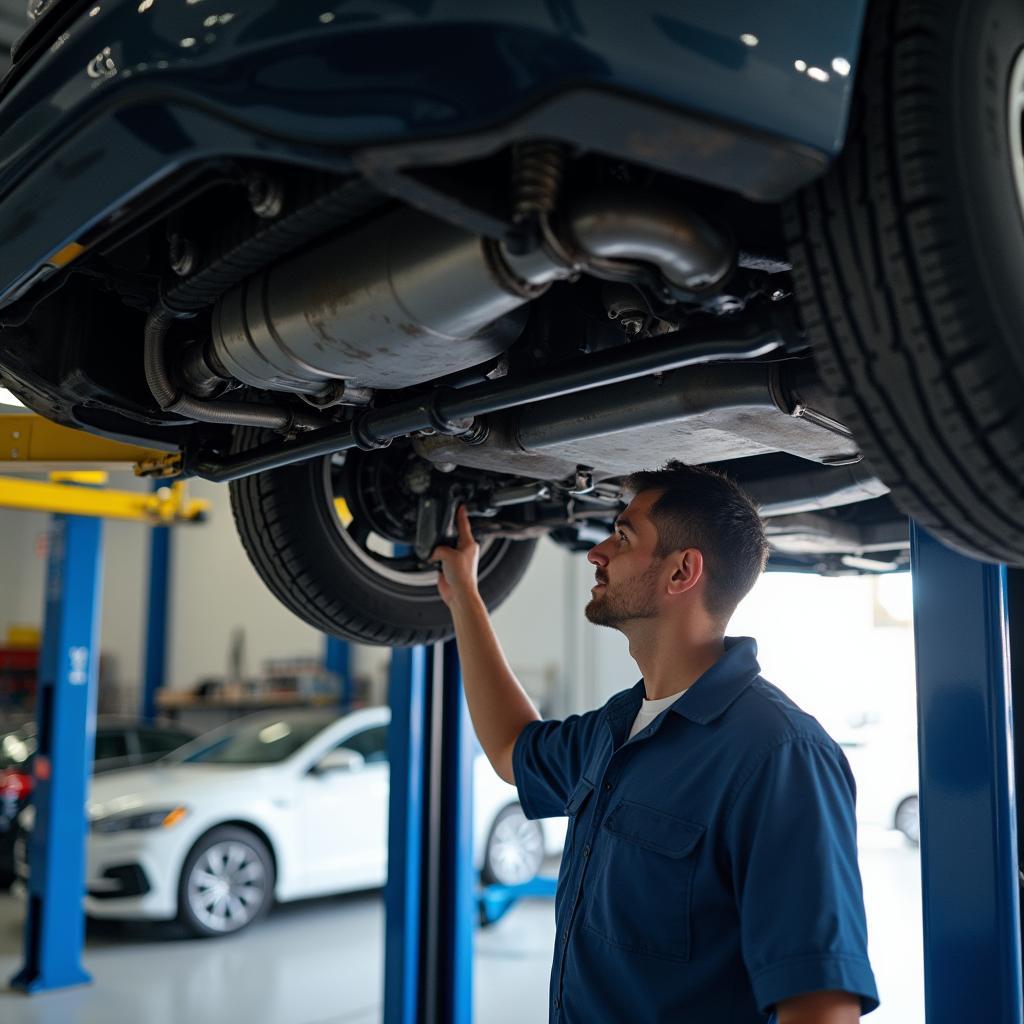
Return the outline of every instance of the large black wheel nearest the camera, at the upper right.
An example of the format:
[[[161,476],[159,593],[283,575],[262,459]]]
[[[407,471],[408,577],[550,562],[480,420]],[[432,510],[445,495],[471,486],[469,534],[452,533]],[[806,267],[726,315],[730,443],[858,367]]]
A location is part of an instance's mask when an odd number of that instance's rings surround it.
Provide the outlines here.
[[[804,326],[902,509],[1024,563],[1024,4],[878,0],[847,144],[786,209]]]

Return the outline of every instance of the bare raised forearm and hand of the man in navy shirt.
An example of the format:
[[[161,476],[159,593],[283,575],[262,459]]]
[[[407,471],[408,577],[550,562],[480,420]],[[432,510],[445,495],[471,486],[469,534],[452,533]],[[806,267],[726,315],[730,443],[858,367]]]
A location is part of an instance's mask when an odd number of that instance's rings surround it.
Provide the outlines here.
[[[441,565],[438,589],[455,623],[473,728],[495,771],[506,782],[514,783],[512,749],[523,727],[540,716],[509,668],[477,589],[480,547],[473,540],[465,507],[460,507],[456,522],[459,546],[442,545],[430,557]]]

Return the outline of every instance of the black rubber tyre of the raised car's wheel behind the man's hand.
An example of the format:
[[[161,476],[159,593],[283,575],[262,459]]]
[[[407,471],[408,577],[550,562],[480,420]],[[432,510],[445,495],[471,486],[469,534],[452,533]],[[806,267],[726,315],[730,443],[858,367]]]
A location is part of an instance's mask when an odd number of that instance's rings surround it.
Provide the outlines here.
[[[238,432],[236,449],[262,439]],[[372,459],[378,454],[358,453]],[[230,484],[231,509],[249,559],[270,591],[310,626],[356,643],[406,647],[454,635],[437,593],[437,573],[396,560],[400,568],[353,540],[336,507],[346,476],[331,458],[285,466]],[[357,520],[353,520],[357,523]],[[529,565],[537,540],[484,541],[480,595],[488,608],[508,597]],[[409,559],[406,559],[408,563]]]

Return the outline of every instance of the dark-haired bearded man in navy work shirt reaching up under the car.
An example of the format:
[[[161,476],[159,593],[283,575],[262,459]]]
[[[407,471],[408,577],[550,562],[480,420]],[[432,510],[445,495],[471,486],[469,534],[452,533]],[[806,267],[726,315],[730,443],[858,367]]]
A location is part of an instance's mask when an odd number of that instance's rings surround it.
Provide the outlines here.
[[[559,1024],[851,1024],[878,1006],[839,745],[724,636],[764,569],[757,509],[717,473],[635,473],[588,555],[587,617],[642,673],[542,721],[476,588],[464,508],[439,547],[477,736],[530,818],[568,815],[549,1014]],[[772,1018],[772,1014],[776,1015]]]

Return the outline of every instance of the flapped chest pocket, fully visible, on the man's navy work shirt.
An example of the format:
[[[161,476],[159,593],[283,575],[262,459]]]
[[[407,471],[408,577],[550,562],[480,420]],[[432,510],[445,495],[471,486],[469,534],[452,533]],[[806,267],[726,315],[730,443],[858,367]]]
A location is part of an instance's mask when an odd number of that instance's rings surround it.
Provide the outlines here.
[[[690,958],[693,872],[705,826],[621,801],[591,864],[584,928],[621,949]],[[595,851],[597,852],[597,851]]]

